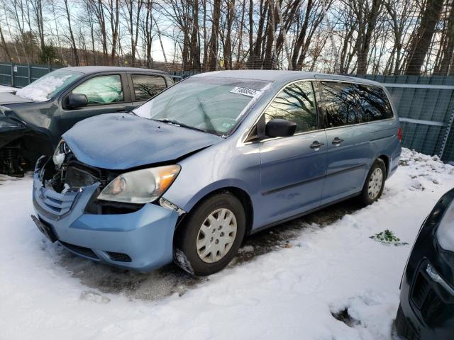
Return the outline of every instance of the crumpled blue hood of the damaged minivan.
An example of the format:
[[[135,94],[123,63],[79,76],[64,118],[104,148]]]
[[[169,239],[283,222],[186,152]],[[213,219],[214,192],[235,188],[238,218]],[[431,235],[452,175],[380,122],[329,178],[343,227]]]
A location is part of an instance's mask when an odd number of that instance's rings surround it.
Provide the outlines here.
[[[223,140],[128,113],[82,120],[62,137],[80,162],[111,170],[170,162]]]

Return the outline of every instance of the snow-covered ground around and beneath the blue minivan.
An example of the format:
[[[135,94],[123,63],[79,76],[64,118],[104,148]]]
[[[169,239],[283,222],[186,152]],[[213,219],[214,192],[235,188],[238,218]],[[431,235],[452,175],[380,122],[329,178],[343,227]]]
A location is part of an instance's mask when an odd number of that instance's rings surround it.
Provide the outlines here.
[[[0,177],[0,339],[391,339],[411,244],[454,186],[454,166],[436,158],[404,149],[401,163],[374,205],[337,205],[250,237],[203,280],[69,255],[33,225],[31,179]],[[370,239],[384,229],[409,245]],[[345,309],[348,322],[333,317]]]

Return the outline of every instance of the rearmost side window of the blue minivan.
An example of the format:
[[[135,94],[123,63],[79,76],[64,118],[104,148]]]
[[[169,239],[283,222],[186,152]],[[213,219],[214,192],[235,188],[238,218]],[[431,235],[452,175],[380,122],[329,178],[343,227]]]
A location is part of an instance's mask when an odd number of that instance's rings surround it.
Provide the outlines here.
[[[377,86],[353,85],[360,103],[360,122],[392,118],[392,108],[383,89]]]

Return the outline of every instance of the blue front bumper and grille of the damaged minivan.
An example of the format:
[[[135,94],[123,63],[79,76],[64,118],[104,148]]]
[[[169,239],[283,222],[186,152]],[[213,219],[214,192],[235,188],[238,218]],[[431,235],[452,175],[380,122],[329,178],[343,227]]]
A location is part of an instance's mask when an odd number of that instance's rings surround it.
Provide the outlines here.
[[[57,193],[46,189],[35,171],[35,212],[58,242],[79,256],[136,271],[152,271],[170,263],[178,213],[151,203],[126,214],[87,213],[87,203],[98,186]]]

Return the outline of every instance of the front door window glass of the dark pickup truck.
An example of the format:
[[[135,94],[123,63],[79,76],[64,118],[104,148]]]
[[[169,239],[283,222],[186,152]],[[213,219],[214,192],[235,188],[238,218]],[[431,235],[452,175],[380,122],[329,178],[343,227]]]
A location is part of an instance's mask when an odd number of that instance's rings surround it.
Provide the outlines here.
[[[123,88],[119,74],[109,74],[88,79],[72,90],[84,94],[89,104],[107,104],[123,101]]]

